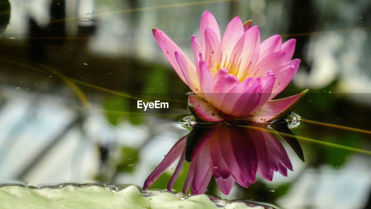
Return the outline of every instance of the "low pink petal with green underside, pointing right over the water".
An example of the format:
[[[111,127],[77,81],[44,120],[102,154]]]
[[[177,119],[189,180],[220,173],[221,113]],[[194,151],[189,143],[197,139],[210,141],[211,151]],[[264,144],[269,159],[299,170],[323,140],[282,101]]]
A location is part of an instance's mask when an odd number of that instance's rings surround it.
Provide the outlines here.
[[[254,120],[263,123],[276,118],[286,117],[302,101],[307,92],[308,89],[291,97],[267,101],[260,110],[254,112]]]

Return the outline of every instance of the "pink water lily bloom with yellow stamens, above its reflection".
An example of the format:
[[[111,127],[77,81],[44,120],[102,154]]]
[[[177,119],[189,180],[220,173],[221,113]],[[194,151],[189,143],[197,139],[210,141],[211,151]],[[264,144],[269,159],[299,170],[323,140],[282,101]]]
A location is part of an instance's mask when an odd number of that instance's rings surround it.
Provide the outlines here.
[[[199,121],[254,120],[285,117],[306,91],[272,100],[289,84],[299,67],[292,59],[295,39],[282,43],[274,35],[260,43],[260,32],[251,20],[235,17],[223,37],[214,16],[201,17],[200,38],[191,37],[194,62],[159,29],[153,35],[190,95],[188,110]]]

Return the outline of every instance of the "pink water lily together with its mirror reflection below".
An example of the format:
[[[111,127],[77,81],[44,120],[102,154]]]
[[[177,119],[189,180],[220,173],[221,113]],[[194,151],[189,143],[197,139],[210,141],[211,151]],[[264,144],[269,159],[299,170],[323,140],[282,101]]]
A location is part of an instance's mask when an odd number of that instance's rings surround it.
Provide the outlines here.
[[[293,135],[287,123],[285,126],[277,122],[287,117],[308,89],[288,98],[273,98],[286,88],[298,70],[300,60],[292,59],[295,39],[282,43],[281,37],[275,35],[260,42],[259,28],[251,23],[249,20],[242,24],[235,17],[221,37],[214,16],[204,12],[200,41],[195,35],[191,38],[194,62],[164,32],[153,29],[178,76],[194,92],[188,97],[188,110],[198,125],[171,148],[145,180],[143,189],[178,158],[168,190],[171,191],[188,161],[183,193],[190,188],[192,194],[204,193],[211,176],[221,192],[228,194],[234,182],[243,187],[255,183],[256,173],[271,181],[274,172],[287,176],[287,170],[292,170],[285,149],[266,129],[265,122],[273,122],[270,125],[275,131],[278,128]],[[207,127],[205,122],[213,126]],[[244,127],[246,124],[250,128]],[[289,136],[281,135],[304,160],[295,136]]]

